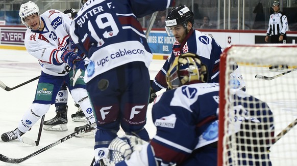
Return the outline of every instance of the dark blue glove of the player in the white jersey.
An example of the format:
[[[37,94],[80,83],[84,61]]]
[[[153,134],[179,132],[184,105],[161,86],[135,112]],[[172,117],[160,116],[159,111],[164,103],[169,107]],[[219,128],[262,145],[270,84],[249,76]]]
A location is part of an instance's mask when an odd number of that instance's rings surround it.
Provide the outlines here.
[[[64,51],[61,55],[64,63],[68,63],[69,67],[73,69],[74,65],[80,66],[84,61],[82,57],[71,51]]]

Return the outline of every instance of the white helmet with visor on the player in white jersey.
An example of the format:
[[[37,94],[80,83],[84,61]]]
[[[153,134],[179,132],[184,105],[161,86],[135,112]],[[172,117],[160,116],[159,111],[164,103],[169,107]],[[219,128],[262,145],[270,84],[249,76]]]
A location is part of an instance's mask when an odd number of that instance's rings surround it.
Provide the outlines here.
[[[39,27],[37,29],[32,29],[28,25],[28,23],[26,21],[24,21],[24,19],[26,17],[28,17],[28,16],[31,16],[31,15],[35,14],[35,13],[39,17]],[[21,18],[21,22],[24,25],[26,25],[28,28],[30,28],[32,30],[38,30],[40,28],[40,26],[41,26],[41,17],[40,17],[40,13],[39,13],[39,8],[35,3],[29,1],[28,3],[21,4],[18,15]]]

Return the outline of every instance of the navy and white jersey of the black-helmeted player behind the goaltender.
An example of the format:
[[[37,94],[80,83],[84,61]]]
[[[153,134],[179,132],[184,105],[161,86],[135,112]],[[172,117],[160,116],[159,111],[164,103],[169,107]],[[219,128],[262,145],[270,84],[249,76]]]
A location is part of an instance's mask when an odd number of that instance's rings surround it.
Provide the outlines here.
[[[192,29],[184,39],[183,43],[176,41],[172,46],[171,55],[165,61],[162,69],[159,71],[151,85],[155,91],[167,88],[165,75],[170,67],[170,64],[177,56],[187,52],[199,55],[202,63],[207,66],[209,73],[207,82],[218,82],[219,59],[222,48],[208,35]]]

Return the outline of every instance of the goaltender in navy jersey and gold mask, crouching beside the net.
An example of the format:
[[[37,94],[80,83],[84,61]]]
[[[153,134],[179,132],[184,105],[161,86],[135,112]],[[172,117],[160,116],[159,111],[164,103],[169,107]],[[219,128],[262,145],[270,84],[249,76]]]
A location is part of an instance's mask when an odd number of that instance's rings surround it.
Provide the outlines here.
[[[156,136],[150,143],[133,136],[114,139],[109,146],[111,165],[217,165],[219,84],[206,83],[208,70],[200,57],[185,53],[174,60],[166,74],[168,86],[172,90],[157,96],[152,108],[153,121],[157,127]],[[241,114],[244,121],[239,120],[238,128],[242,128],[245,120],[252,121],[254,125],[267,125],[265,129],[261,128],[264,131],[255,128],[248,130],[250,136],[245,130],[243,134],[250,139],[254,134],[263,136],[260,142],[265,148],[253,148],[247,150],[246,154],[238,154],[259,159],[238,164],[271,165],[267,149],[274,138],[273,114],[266,103],[242,90],[234,91],[234,97],[241,101],[234,103],[235,106],[245,110],[242,111],[244,115]],[[251,101],[260,103],[247,106],[245,102]],[[246,147],[251,148],[253,144],[257,142],[245,142]],[[261,158],[257,156],[260,154]]]

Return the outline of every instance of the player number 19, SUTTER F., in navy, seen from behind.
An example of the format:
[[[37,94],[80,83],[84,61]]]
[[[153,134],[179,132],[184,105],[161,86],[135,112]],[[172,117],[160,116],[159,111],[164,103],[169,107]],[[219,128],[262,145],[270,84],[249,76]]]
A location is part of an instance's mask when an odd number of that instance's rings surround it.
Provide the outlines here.
[[[97,122],[94,164],[103,165],[119,126],[127,135],[150,139],[144,125],[153,54],[137,18],[174,6],[175,1],[81,2],[70,35],[89,58],[84,81]]]

